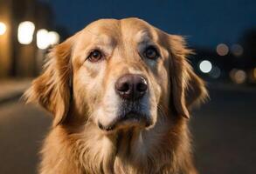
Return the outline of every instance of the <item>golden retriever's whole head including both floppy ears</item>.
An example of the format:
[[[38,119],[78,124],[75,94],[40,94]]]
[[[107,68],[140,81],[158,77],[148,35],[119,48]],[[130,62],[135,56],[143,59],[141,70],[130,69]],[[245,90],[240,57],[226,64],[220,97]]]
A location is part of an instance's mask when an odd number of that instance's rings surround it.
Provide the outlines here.
[[[140,19],[99,20],[52,49],[25,96],[52,112],[54,125],[68,115],[103,131],[144,129],[161,108],[188,118],[207,95],[186,62],[189,54],[183,37]]]

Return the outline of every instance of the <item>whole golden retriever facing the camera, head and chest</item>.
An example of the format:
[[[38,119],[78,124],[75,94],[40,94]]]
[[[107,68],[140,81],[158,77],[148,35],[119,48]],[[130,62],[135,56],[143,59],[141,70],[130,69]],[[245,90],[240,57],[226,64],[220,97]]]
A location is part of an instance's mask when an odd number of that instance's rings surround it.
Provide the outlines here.
[[[40,174],[196,174],[190,110],[207,90],[181,36],[100,19],[48,54],[24,97],[53,115]]]

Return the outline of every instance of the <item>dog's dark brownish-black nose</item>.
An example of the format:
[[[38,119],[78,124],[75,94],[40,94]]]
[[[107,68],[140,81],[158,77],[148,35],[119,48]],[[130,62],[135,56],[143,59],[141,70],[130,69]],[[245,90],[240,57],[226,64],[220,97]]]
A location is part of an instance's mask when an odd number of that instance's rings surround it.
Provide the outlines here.
[[[140,75],[127,74],[116,81],[115,90],[123,99],[137,100],[146,93],[148,84]]]

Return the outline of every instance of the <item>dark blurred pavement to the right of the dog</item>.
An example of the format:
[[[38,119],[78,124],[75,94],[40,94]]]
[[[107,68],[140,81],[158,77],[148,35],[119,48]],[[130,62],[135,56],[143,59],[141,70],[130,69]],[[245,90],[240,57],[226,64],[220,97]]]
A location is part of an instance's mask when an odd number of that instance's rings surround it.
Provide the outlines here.
[[[191,120],[202,174],[256,173],[256,89],[230,88],[211,89]]]

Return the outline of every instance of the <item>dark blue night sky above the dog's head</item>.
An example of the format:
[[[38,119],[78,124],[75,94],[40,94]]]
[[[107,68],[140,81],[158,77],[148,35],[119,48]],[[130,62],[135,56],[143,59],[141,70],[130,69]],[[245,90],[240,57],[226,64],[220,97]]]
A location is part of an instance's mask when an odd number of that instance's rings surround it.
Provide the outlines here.
[[[75,33],[99,18],[140,17],[172,34],[186,36],[190,45],[215,48],[239,43],[256,28],[255,0],[41,0],[50,3],[56,25]]]

